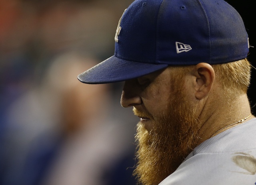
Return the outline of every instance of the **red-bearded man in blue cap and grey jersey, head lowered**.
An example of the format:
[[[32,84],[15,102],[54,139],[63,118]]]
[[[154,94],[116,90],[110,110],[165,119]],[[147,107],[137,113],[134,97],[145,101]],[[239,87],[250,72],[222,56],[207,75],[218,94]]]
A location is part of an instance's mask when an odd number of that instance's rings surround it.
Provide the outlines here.
[[[120,18],[115,55],[78,75],[125,81],[144,185],[256,183],[256,119],[242,18],[223,0],[136,0]]]

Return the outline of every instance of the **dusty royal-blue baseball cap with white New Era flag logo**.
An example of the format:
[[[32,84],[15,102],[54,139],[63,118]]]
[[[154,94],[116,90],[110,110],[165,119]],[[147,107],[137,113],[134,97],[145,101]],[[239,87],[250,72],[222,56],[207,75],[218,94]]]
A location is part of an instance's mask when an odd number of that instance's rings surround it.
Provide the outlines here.
[[[112,57],[78,75],[83,83],[126,81],[169,65],[247,57],[248,34],[224,0],[135,0],[116,29]]]

